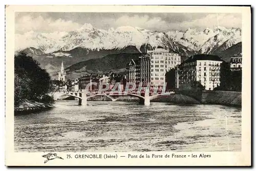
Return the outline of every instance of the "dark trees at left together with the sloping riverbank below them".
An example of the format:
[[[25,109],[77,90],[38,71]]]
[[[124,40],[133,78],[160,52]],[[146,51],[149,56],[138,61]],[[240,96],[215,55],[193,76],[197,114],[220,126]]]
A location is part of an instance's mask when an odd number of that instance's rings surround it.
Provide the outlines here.
[[[14,114],[52,107],[50,75],[25,53],[14,55]]]

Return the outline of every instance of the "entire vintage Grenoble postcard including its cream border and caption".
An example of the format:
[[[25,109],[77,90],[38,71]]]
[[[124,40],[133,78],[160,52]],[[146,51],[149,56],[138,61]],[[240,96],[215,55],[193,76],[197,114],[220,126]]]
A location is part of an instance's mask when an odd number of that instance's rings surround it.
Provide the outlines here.
[[[6,5],[7,166],[250,166],[250,6]]]

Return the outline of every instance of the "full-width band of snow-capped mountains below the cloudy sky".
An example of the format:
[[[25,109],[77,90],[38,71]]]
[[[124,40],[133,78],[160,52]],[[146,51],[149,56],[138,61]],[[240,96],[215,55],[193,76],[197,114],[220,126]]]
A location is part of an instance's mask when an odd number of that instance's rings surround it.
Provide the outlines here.
[[[91,24],[84,24],[80,29],[70,32],[36,33],[30,31],[15,34],[15,50],[35,48],[46,54],[66,55],[66,51],[75,48],[90,50],[124,49],[135,46],[140,51],[141,45],[149,44],[153,48],[162,46],[170,51],[189,55],[189,53],[213,53],[225,50],[242,41],[241,29],[216,27],[203,31],[150,31],[138,27],[118,27],[116,29],[97,29]],[[62,53],[63,52],[63,53]],[[71,56],[72,57],[72,56]]]

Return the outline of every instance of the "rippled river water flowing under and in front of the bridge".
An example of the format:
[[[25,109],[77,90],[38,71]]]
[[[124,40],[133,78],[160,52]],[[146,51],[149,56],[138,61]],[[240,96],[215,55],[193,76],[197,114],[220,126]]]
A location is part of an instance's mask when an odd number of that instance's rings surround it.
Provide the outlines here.
[[[15,116],[15,151],[241,151],[241,108],[57,101]]]

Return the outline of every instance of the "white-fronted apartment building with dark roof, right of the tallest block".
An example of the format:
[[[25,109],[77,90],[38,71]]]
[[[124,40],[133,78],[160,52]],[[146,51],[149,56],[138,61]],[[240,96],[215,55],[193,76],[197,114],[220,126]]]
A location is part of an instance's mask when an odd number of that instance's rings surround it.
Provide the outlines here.
[[[190,56],[178,67],[177,88],[191,89],[196,82],[213,90],[220,85],[220,65],[223,60],[217,55],[197,54]]]

